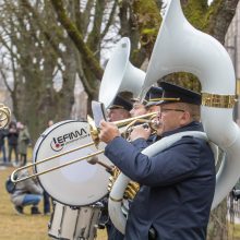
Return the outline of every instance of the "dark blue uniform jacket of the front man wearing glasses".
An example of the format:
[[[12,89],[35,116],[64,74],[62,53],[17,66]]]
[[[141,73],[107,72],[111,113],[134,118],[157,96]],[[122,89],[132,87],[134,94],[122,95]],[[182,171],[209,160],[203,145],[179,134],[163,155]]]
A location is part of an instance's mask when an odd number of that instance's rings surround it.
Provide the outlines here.
[[[202,131],[202,125],[192,122],[164,136],[183,131]],[[151,227],[158,240],[205,239],[216,181],[208,143],[184,136],[153,157],[140,153],[144,144],[116,137],[105,149],[125,176],[142,185],[129,211],[125,240],[147,240]]]

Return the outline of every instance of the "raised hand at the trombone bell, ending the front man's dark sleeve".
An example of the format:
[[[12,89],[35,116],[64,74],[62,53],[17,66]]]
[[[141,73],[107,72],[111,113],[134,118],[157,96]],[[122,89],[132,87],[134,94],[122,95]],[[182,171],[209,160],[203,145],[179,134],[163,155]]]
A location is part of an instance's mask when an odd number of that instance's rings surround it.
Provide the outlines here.
[[[111,122],[106,122],[104,120],[100,121],[100,133],[99,139],[101,142],[109,143],[116,136],[120,136],[120,132],[116,124]]]

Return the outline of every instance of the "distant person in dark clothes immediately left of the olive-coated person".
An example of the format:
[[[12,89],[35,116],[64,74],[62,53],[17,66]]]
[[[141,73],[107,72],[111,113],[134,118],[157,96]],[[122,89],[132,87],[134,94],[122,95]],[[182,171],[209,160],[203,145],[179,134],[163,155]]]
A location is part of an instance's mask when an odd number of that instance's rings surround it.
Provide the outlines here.
[[[9,123],[8,130],[8,147],[9,147],[9,161],[12,161],[12,152],[15,154],[15,161],[12,163],[13,166],[19,166],[19,154],[17,154],[17,139],[19,131],[16,129],[16,123],[11,121]]]

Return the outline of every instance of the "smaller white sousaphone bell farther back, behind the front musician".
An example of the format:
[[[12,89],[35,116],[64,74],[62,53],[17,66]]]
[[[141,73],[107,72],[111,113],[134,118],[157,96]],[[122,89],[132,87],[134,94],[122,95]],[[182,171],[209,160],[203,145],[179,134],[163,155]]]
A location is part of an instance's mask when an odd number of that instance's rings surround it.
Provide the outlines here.
[[[127,91],[136,97],[142,89],[145,72],[129,61],[130,50],[130,39],[121,38],[107,63],[98,96],[98,100],[106,108],[110,106],[118,93]]]

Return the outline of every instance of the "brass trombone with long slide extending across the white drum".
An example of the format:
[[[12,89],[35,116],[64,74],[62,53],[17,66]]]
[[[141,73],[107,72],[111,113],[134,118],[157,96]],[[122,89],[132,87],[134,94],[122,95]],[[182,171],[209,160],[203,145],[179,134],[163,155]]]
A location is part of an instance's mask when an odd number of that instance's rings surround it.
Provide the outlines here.
[[[148,119],[155,118],[156,116],[157,116],[157,112],[151,112],[151,113],[137,116],[137,117],[134,117],[134,118],[129,118],[129,119],[124,119],[124,120],[120,120],[120,121],[115,121],[115,122],[112,122],[112,123],[115,123],[118,128],[127,127],[127,129],[128,129],[128,124],[131,124],[131,122],[133,122],[133,121],[136,121],[136,120],[140,120],[140,119],[141,119],[141,122],[146,123],[146,122],[149,122]],[[21,171],[21,170],[28,169],[28,168],[31,168],[31,167],[35,167],[35,166],[40,165],[40,164],[44,164],[44,163],[46,163],[46,161],[48,161],[48,160],[55,159],[55,158],[57,158],[57,157],[60,157],[60,156],[70,154],[70,153],[72,153],[72,152],[75,152],[75,151],[79,151],[79,149],[82,149],[82,148],[85,148],[85,147],[88,147],[88,146],[92,146],[92,145],[95,145],[95,146],[97,147],[98,144],[99,144],[99,129],[96,128],[94,120],[93,120],[89,116],[87,116],[87,122],[88,122],[88,124],[89,124],[89,132],[91,132],[91,136],[92,136],[92,139],[93,139],[93,142],[87,143],[87,144],[84,144],[84,145],[79,146],[79,147],[75,147],[75,148],[73,148],[73,149],[67,151],[67,152],[64,152],[64,153],[61,153],[61,154],[57,154],[57,155],[47,157],[47,158],[45,158],[45,159],[43,159],[43,160],[39,160],[39,161],[33,163],[33,164],[28,164],[28,165],[26,165],[26,166],[20,167],[20,168],[15,169],[15,170],[12,172],[12,175],[11,175],[11,181],[12,181],[13,183],[22,182],[22,181],[25,181],[25,180],[27,180],[27,179],[35,178],[35,177],[38,177],[38,176],[40,176],[40,175],[45,175],[45,173],[47,173],[47,172],[55,171],[55,170],[57,170],[57,169],[67,167],[67,166],[69,166],[69,165],[75,164],[75,163],[77,163],[77,161],[81,161],[81,160],[84,160],[84,159],[94,157],[94,156],[96,156],[96,155],[103,154],[104,151],[97,151],[97,152],[95,152],[95,153],[93,153],[93,154],[89,154],[89,155],[80,157],[80,158],[77,158],[77,159],[70,160],[70,161],[68,161],[68,163],[65,163],[65,164],[62,164],[62,165],[52,167],[52,168],[47,169],[47,170],[44,170],[44,171],[41,171],[41,172],[35,172],[35,173],[29,175],[29,176],[24,177],[24,178],[17,178],[17,172]],[[91,164],[91,163],[89,163],[89,164]],[[101,165],[101,166],[105,166],[105,164],[101,163],[101,161],[99,161],[99,160],[97,160],[96,164],[99,164],[99,165]],[[106,167],[107,169],[110,168],[109,166],[105,166],[105,167]]]

